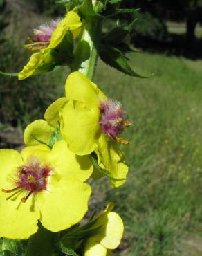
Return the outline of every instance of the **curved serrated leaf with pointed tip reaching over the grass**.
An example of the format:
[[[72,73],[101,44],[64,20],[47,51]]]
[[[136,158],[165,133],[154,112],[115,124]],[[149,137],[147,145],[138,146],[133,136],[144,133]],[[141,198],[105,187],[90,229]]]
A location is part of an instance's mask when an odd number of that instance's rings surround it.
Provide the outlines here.
[[[123,57],[122,53],[118,48],[112,47],[110,45],[105,44],[101,46],[99,49],[100,58],[109,66],[116,68],[118,71],[125,73],[127,75],[131,75],[139,78],[148,78],[152,75],[140,75],[134,71],[131,66],[127,63],[125,57]]]

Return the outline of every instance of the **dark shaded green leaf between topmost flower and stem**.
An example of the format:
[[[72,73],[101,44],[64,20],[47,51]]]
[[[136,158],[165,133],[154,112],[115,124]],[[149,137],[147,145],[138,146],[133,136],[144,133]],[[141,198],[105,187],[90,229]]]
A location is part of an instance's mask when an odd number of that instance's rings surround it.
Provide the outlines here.
[[[50,55],[56,65],[71,64],[73,60],[73,35],[70,30],[66,32],[62,42],[50,50]]]

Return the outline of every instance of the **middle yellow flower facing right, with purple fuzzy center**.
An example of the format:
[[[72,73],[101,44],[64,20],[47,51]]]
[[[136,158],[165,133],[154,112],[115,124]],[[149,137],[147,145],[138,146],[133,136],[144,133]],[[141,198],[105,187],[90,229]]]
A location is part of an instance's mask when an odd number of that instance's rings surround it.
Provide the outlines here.
[[[119,102],[109,100],[98,86],[80,72],[68,76],[66,98],[59,98],[48,107],[45,119],[53,127],[60,123],[68,148],[78,155],[95,152],[98,164],[110,174],[111,185],[125,183],[128,172],[125,155],[116,141],[127,143],[118,134],[129,125]]]

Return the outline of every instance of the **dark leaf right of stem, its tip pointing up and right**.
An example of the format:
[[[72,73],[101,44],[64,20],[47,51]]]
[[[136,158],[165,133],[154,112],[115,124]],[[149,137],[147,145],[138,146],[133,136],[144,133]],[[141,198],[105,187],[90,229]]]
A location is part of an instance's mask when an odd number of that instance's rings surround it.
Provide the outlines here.
[[[122,41],[131,33],[131,30],[134,28],[134,24],[136,23],[137,19],[134,19],[134,21],[131,22],[131,24],[127,26],[120,26],[117,28],[113,28],[109,33],[104,35],[102,37],[102,40],[104,42],[107,42],[109,44],[121,44]]]

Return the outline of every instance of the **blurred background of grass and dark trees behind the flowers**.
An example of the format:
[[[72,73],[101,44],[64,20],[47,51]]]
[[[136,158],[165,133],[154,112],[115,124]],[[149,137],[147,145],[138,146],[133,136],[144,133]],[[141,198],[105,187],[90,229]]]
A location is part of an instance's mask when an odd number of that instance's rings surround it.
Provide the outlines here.
[[[0,70],[20,71],[30,53],[23,48],[32,28],[64,15],[54,0],[0,0]],[[91,210],[108,201],[125,221],[116,255],[202,255],[202,1],[124,0],[141,8],[129,55],[134,70],[123,75],[99,60],[95,82],[120,100],[133,126],[122,136],[130,165],[127,183],[111,190],[93,182]],[[133,19],[123,15],[123,22]],[[109,30],[116,19],[104,22]],[[0,147],[21,149],[23,130],[43,118],[64,93],[68,68],[25,81],[0,77]]]

